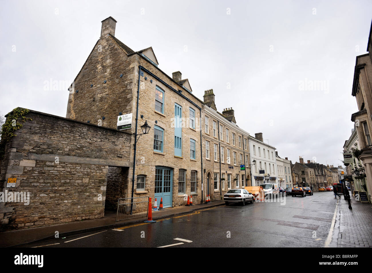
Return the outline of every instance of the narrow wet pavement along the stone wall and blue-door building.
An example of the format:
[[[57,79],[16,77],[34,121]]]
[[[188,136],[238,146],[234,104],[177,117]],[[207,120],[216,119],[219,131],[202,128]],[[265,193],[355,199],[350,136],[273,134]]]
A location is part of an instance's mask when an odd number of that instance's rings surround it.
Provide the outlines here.
[[[195,204],[193,206],[178,206],[166,208],[164,211],[152,212],[153,220],[167,218],[176,215],[187,214],[198,209],[211,208],[224,205],[221,200],[212,201],[211,203]],[[54,239],[58,231],[59,238],[92,232],[102,229],[122,227],[124,225],[141,223],[147,220],[145,218],[135,218],[126,221],[116,222],[116,212],[105,211],[105,217],[92,220],[75,221],[67,224],[50,225],[46,227],[24,228],[12,231],[0,232],[0,247],[15,247],[23,244],[35,243]]]

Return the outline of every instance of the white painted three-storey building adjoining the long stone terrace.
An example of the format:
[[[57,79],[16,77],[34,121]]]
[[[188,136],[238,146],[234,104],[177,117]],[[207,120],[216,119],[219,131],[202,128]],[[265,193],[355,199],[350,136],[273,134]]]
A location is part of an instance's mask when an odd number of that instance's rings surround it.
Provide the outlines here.
[[[259,186],[262,183],[277,182],[277,167],[275,147],[263,142],[262,133],[249,136],[250,164],[253,160],[255,165],[251,166],[252,186]]]

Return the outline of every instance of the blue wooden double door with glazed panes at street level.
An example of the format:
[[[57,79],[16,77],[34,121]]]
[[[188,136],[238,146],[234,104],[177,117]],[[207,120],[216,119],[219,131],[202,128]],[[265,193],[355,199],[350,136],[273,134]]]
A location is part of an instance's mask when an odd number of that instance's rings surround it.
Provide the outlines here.
[[[163,198],[163,208],[172,206],[172,170],[169,168],[155,169],[155,198],[159,207]]]

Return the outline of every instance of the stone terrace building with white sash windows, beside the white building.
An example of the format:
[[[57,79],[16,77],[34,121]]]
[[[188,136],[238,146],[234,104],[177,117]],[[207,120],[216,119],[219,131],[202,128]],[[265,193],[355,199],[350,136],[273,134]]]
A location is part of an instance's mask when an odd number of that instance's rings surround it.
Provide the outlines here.
[[[232,108],[226,108],[222,113],[217,111],[212,89],[204,93],[205,190],[213,200],[221,199],[230,189],[250,185],[249,133],[236,125]]]

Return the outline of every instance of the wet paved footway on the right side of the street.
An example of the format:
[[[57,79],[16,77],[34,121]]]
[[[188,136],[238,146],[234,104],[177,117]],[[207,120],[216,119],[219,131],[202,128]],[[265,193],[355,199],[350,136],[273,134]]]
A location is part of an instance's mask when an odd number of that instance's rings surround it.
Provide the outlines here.
[[[355,201],[353,196],[350,201],[352,209],[341,196],[337,247],[372,247],[372,204]]]

